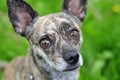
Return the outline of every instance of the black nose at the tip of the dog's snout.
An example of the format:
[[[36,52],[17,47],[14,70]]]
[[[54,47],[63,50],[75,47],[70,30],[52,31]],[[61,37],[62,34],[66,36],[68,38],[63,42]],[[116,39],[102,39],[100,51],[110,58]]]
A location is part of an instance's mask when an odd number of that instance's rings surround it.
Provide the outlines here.
[[[75,50],[70,50],[70,51],[63,51],[63,59],[71,64],[71,65],[75,65],[78,60],[79,60],[79,54],[75,51]]]

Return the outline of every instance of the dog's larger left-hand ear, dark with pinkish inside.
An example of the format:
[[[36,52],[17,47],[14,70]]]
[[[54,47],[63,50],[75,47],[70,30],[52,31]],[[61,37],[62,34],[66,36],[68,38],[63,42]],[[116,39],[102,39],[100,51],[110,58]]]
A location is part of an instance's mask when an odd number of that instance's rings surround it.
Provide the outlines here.
[[[23,0],[7,0],[7,6],[8,15],[14,30],[18,34],[26,36],[26,28],[38,16],[37,12]]]

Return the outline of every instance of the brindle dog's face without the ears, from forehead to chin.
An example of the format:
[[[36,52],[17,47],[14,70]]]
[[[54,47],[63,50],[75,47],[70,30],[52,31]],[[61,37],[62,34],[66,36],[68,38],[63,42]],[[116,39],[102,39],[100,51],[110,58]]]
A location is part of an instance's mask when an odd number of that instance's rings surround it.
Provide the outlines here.
[[[38,17],[32,26],[29,40],[37,57],[58,71],[74,70],[82,65],[81,30],[71,16],[62,12]]]

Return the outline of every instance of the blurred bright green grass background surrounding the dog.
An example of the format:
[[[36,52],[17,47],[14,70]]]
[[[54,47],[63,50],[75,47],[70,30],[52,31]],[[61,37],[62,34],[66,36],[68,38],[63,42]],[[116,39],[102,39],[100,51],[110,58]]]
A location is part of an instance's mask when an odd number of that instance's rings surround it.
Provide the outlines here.
[[[61,11],[62,0],[26,0],[40,15]],[[120,0],[88,0],[83,23],[80,80],[120,80]],[[17,35],[0,0],[0,60],[26,55],[28,42]],[[0,77],[3,72],[0,72]],[[0,78],[1,79],[1,78]]]

